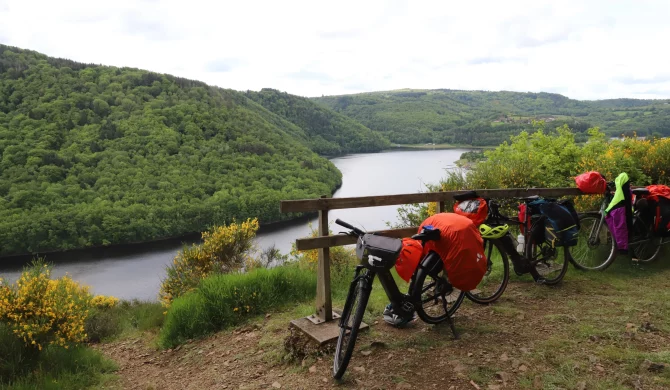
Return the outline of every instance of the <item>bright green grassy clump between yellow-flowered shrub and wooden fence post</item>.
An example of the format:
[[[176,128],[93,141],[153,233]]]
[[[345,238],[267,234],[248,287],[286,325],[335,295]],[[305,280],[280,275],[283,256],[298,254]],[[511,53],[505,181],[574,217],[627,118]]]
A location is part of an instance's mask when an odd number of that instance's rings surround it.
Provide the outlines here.
[[[210,276],[172,302],[160,344],[171,348],[268,310],[313,299],[315,292],[314,272],[295,265]]]

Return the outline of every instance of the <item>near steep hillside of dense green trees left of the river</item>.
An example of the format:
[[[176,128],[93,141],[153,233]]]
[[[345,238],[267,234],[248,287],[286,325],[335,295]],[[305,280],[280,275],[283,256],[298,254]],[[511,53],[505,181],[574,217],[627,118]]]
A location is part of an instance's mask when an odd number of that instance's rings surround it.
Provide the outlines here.
[[[286,218],[341,182],[304,137],[240,92],[0,45],[0,255]]]

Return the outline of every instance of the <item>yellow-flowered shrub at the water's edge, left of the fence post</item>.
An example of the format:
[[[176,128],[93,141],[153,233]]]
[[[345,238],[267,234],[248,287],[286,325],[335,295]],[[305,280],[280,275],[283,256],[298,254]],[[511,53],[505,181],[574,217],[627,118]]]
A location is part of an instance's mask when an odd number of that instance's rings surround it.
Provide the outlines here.
[[[160,288],[165,306],[195,288],[205,277],[242,268],[254,245],[258,219],[228,226],[216,226],[202,233],[202,244],[185,247],[167,267],[167,278]]]

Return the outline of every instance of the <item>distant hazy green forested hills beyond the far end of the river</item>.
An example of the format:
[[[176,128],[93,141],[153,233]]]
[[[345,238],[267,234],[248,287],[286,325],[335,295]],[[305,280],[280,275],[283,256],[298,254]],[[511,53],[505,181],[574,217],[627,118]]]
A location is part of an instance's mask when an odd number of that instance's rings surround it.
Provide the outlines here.
[[[577,141],[599,126],[614,136],[670,136],[670,100],[580,101],[552,93],[398,90],[328,96],[315,101],[384,133],[399,144],[498,145],[533,121],[567,124]]]

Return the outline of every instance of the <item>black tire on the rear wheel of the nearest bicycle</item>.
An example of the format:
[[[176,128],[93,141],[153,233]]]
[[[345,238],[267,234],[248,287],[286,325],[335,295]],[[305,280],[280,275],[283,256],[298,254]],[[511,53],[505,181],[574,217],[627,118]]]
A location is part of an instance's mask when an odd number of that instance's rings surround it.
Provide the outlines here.
[[[446,321],[448,317],[454,315],[456,310],[458,310],[458,308],[463,303],[463,299],[465,299],[465,293],[457,289],[453,289],[452,293],[449,295],[443,294],[444,291],[438,291],[437,296],[433,291],[431,295],[430,289],[438,286],[437,281],[439,279],[444,279],[444,270],[441,271],[437,276],[438,278],[436,279],[435,277],[431,276],[427,270],[419,268],[415,274],[415,280],[412,282],[412,286],[414,286],[412,291],[412,299],[414,302],[418,303],[415,307],[416,313],[419,315],[419,318],[421,318],[421,320],[427,324],[439,324]],[[429,281],[429,284],[425,285],[426,279],[428,278],[432,279],[432,282]],[[432,309],[427,310],[423,305],[424,300],[433,300],[433,306],[437,307],[437,305],[442,305],[442,301],[438,302],[440,299],[445,300],[447,305],[449,305],[449,300],[447,297],[453,296],[452,294],[458,294],[458,296],[456,297],[455,301],[451,303],[451,307],[447,308],[446,312],[444,309],[442,309],[442,314],[433,315]]]

